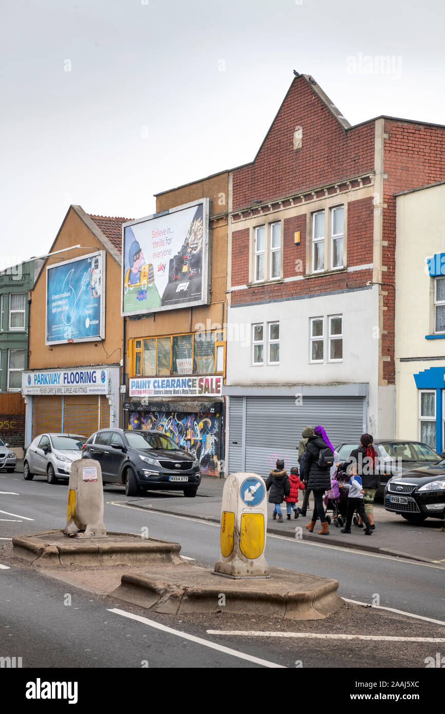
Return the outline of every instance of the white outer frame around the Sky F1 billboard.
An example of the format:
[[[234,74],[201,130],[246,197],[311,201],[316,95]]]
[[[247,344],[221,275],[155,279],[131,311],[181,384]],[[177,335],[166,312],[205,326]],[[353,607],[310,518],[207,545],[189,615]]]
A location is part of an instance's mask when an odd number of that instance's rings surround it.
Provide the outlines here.
[[[151,308],[139,308],[134,311],[124,311],[124,280],[125,280],[125,228],[129,226],[134,226],[137,223],[144,223],[145,221],[151,221],[154,218],[161,218],[162,216],[169,216],[177,211],[184,211],[186,208],[193,208],[194,206],[202,205],[202,222],[203,222],[203,257],[206,256],[206,260],[202,263],[202,278],[201,278],[201,299],[194,300],[190,302],[175,303],[174,305],[164,305],[159,307]],[[181,310],[182,308],[191,308],[201,305],[209,305],[210,303],[210,266],[211,266],[211,230],[209,227],[209,217],[210,217],[210,199],[209,198],[198,198],[196,201],[191,201],[190,203],[183,203],[181,206],[175,206],[174,208],[169,208],[166,211],[159,211],[158,213],[152,213],[151,216],[144,216],[143,218],[136,218],[134,221],[127,221],[122,223],[122,267],[121,267],[121,317],[129,317],[132,315],[152,315],[153,313],[164,312],[166,310]]]

